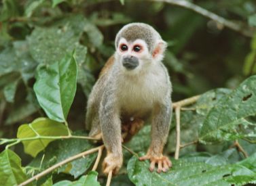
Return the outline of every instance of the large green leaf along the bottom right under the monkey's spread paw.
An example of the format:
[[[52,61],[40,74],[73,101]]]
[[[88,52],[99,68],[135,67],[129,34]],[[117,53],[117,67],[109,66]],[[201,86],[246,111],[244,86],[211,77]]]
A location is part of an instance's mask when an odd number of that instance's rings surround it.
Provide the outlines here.
[[[196,159],[194,159],[196,160]],[[213,166],[204,161],[173,160],[166,173],[149,171],[149,162],[136,156],[128,162],[128,176],[135,185],[244,185],[256,183],[256,154],[238,162]]]

